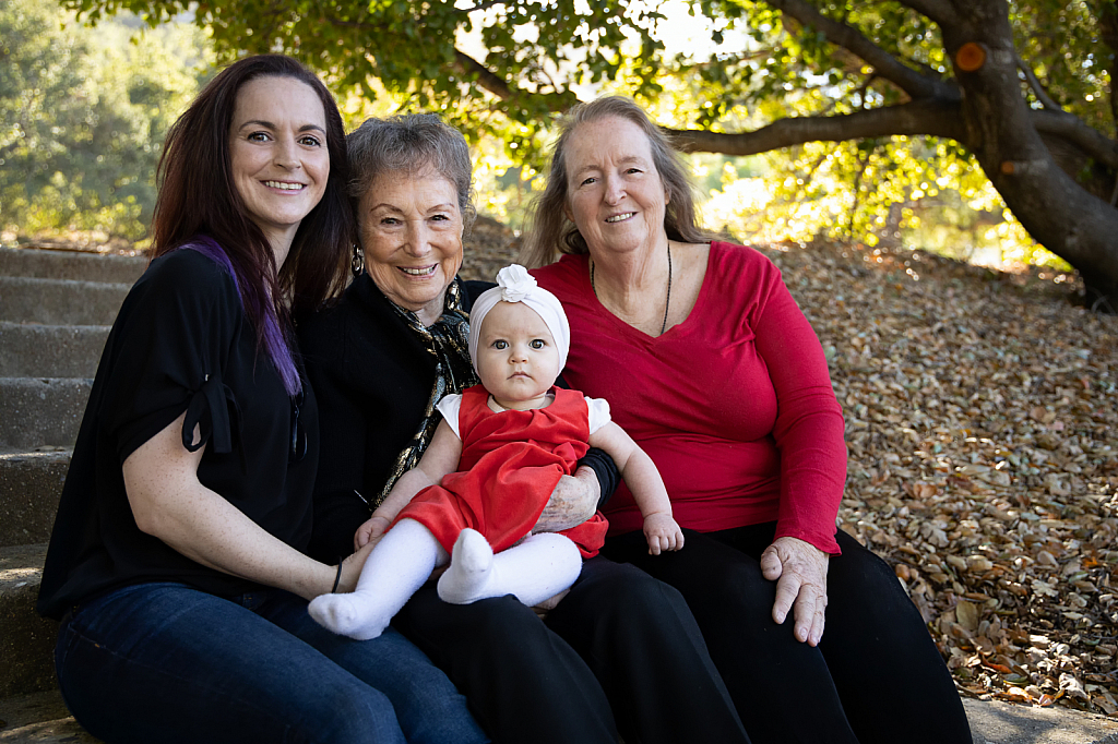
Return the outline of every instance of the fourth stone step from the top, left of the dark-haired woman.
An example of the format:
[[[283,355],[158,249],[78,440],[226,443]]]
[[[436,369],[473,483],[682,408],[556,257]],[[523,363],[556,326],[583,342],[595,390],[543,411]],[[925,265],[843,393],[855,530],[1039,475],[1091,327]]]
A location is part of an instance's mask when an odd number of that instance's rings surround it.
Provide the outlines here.
[[[0,447],[73,447],[93,380],[0,378]]]

